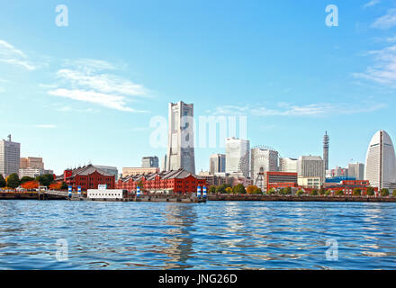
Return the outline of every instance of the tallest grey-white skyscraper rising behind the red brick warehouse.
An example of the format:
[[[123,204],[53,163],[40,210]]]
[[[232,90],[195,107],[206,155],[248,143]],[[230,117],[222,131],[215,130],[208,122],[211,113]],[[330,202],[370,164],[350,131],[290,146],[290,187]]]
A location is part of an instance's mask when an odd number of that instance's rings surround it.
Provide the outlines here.
[[[193,151],[193,103],[169,103],[166,170],[184,170],[195,174]]]

